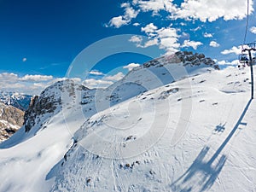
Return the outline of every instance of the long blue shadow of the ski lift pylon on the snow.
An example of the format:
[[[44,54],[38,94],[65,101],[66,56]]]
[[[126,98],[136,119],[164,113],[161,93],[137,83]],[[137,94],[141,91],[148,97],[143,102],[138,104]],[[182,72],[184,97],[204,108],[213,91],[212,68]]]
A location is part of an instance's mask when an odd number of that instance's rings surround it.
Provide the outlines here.
[[[210,160],[204,160],[210,148],[208,146],[202,148],[200,154],[198,154],[193,164],[189,166],[189,169],[171,184],[173,191],[189,192],[193,190],[203,192],[212,187],[212,184],[217,179],[227,160],[227,156],[221,154],[221,152],[227,143],[230,142],[230,139],[234,136],[239,125],[246,125],[245,123],[242,123],[241,120],[247,113],[247,109],[249,108],[251,102],[252,100],[247,102],[247,106],[241,113],[236,125],[232,131],[230,131],[230,134],[228,137],[226,137],[224,143],[222,143],[218,150],[212,155],[212,158]],[[197,183],[198,185],[196,185]]]

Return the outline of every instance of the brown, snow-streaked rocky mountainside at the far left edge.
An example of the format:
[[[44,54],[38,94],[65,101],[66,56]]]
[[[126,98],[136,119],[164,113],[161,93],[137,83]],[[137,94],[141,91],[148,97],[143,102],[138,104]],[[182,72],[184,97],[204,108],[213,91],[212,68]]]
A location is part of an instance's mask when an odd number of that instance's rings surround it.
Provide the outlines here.
[[[24,112],[0,102],[0,143],[11,137],[23,125]]]

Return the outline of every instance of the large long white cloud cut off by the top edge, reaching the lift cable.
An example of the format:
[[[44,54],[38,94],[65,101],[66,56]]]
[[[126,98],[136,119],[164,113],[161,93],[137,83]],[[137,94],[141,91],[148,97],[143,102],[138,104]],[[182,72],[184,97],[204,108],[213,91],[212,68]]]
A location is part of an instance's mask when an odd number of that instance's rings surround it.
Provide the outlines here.
[[[211,22],[218,18],[242,20],[247,16],[247,1],[241,0],[185,0],[180,5],[173,3],[173,0],[133,0],[132,5],[143,12],[152,11],[153,15],[158,15],[164,10],[172,19],[193,19],[203,22]],[[250,14],[253,13],[253,1],[249,3],[249,11]]]

